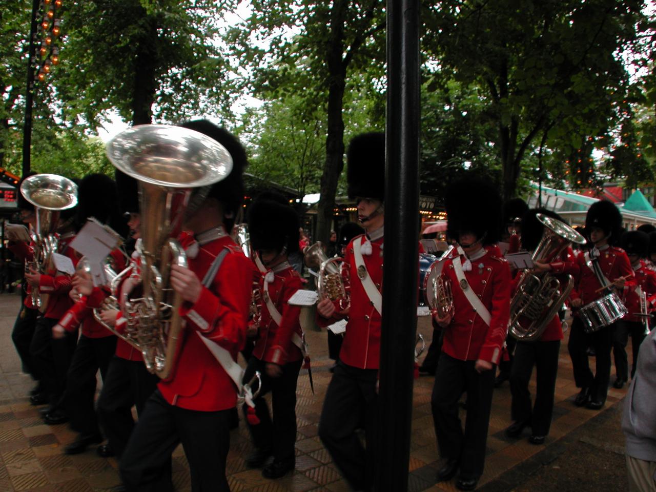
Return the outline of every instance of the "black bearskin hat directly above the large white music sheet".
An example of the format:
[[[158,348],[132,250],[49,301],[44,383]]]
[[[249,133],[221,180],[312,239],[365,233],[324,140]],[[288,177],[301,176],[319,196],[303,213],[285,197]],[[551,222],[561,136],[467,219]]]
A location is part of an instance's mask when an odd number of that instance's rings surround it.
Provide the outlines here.
[[[116,183],[106,174],[88,174],[77,187],[77,225],[90,217],[110,227],[119,225],[119,197]]]

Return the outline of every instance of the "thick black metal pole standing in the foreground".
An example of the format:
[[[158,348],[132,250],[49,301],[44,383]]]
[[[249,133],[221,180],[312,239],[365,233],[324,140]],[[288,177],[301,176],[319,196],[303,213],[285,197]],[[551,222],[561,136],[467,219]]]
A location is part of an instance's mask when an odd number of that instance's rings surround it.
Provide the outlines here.
[[[408,486],[419,275],[419,1],[387,1],[385,247],[376,491]]]

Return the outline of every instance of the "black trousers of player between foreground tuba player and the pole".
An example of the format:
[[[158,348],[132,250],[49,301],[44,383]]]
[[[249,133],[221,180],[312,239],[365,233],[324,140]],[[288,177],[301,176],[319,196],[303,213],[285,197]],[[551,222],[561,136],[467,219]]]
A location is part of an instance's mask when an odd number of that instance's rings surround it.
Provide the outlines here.
[[[244,381],[249,382],[255,371],[262,374],[262,390],[255,399],[255,415],[260,423],[252,425],[245,418],[246,424],[251,432],[253,444],[258,449],[272,449],[276,461],[288,461],[295,459],[294,445],[296,443],[296,384],[302,359],[289,362],[282,366],[282,375],[271,378],[264,371],[264,361],[251,356],[248,367],[244,373]],[[269,407],[264,396],[271,392],[271,406],[274,419],[271,419]],[[243,411],[247,411],[247,405],[243,405]]]

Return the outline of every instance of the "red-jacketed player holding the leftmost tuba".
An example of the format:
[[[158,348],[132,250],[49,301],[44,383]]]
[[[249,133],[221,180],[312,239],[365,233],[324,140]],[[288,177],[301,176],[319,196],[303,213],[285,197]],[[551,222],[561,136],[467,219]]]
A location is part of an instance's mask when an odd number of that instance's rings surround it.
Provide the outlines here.
[[[57,253],[68,256],[77,265],[80,256],[68,245],[75,237],[76,207],[60,213]],[[41,416],[47,424],[57,425],[68,421],[68,417],[60,408],[60,399],[66,389],[66,375],[77,344],[77,330],[66,333],[62,338],[53,337],[54,327],[73,305],[69,297],[71,276],[58,272],[51,262],[50,269],[45,274],[35,270],[25,274],[25,278],[41,294],[49,295],[45,313],[37,318],[37,323],[30,343],[30,355],[41,374],[41,381],[47,392],[50,407],[41,411]]]

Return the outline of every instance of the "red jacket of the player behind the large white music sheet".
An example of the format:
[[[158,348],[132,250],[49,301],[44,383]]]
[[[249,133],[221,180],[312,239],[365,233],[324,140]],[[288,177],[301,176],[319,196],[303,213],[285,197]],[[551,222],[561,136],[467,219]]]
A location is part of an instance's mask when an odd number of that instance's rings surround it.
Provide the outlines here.
[[[115,249],[110,253],[112,256],[112,268],[115,272],[120,272],[125,268],[125,256],[121,251]],[[114,334],[96,321],[93,316],[94,308],[100,307],[102,301],[109,295],[106,289],[94,287],[89,297],[83,296],[79,301],[73,304],[59,320],[59,324],[66,331],[73,332],[82,324],[82,335],[88,338],[112,337]]]

